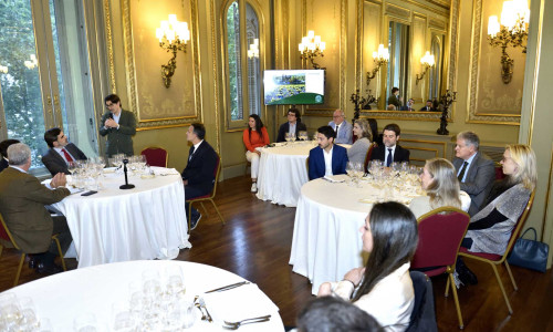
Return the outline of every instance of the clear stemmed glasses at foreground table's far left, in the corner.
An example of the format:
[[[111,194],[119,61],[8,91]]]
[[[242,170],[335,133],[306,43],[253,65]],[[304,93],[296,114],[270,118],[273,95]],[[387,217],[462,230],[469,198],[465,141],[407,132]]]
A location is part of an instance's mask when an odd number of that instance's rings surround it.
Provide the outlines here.
[[[52,331],[48,319],[39,320],[31,298],[0,295],[0,331]]]

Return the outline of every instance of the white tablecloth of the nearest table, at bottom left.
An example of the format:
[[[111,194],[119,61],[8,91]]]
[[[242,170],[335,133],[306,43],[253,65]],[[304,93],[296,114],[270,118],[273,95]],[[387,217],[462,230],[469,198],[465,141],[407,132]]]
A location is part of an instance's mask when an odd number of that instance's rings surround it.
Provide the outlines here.
[[[7,292],[15,293],[18,299],[30,297],[39,319],[48,318],[54,331],[73,331],[74,318],[86,312],[94,313],[98,325],[104,326],[98,331],[108,331],[112,324],[112,304],[129,299],[129,283],[140,282],[142,272],[150,269],[158,270],[163,276],[164,270],[168,267],[181,268],[185,276],[186,294],[192,297],[200,295],[207,290],[244,280],[234,273],[192,262],[128,261],[59,273],[19,286]],[[239,293],[240,288],[232,291]],[[260,303],[271,302],[260,290],[257,290],[255,298]],[[207,308],[209,310],[209,304]],[[211,314],[213,313],[211,312]],[[265,314],[272,315],[270,321],[242,325],[240,331],[284,330],[282,319],[276,310]],[[186,331],[221,330],[223,329],[217,323],[198,321]]]

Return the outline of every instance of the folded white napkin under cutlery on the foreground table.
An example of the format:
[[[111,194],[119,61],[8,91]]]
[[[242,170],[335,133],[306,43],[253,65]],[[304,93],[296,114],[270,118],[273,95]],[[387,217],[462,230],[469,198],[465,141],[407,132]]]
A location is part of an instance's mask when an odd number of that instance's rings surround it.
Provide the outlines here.
[[[254,283],[202,294],[202,298],[209,313],[220,322],[237,322],[267,314],[274,315],[279,311],[279,308]]]

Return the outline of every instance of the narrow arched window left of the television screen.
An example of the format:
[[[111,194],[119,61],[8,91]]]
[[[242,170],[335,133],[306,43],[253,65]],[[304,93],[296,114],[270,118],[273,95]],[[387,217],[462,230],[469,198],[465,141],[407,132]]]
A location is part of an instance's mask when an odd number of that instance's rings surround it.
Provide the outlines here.
[[[259,48],[260,27],[253,7],[244,1],[232,1],[226,10],[227,91],[229,128],[243,127],[249,114],[260,114],[261,68],[259,53],[248,56],[250,45]],[[244,116],[246,115],[246,116]]]

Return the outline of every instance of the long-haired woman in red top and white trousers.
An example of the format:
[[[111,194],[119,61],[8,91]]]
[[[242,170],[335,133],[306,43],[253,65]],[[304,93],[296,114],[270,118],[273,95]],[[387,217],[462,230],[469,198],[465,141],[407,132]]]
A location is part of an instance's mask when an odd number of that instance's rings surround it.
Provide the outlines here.
[[[259,115],[250,115],[248,129],[243,131],[242,139],[248,149],[246,158],[251,163],[251,193],[255,193],[258,191],[259,157],[261,156],[261,153],[255,147],[262,147],[271,143]]]

